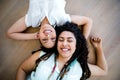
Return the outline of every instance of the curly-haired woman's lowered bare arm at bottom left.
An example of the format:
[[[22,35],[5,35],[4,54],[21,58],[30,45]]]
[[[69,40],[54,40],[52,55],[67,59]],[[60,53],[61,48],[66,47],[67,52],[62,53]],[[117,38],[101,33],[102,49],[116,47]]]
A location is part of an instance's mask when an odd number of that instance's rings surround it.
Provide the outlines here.
[[[39,55],[40,51],[34,53],[20,65],[16,74],[16,80],[25,80],[27,73],[30,73],[34,69]]]

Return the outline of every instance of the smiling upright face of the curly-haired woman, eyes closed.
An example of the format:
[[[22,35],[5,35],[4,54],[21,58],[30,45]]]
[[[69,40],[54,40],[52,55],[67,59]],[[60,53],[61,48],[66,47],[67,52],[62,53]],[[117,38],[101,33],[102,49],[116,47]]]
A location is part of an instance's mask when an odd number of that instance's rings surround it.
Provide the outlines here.
[[[70,31],[63,31],[58,37],[59,57],[70,59],[76,49],[76,38]]]

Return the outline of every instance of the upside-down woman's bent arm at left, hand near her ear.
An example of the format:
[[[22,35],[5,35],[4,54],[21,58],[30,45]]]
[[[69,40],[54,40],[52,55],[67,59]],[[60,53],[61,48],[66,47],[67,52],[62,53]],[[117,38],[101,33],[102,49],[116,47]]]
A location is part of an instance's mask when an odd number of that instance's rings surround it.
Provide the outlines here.
[[[37,33],[22,33],[26,30],[25,16],[16,21],[7,31],[7,36],[15,40],[38,39]]]

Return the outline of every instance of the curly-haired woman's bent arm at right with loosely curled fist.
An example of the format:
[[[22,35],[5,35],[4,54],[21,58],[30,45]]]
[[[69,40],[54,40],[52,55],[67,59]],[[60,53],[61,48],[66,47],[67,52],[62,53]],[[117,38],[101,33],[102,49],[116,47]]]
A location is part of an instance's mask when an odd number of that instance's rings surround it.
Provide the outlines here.
[[[101,38],[99,37],[91,38],[90,41],[93,47],[95,48],[96,57],[97,57],[95,65],[88,64],[91,71],[91,75],[95,75],[95,76],[107,75],[108,69],[107,69],[107,63],[106,63],[106,59],[102,49]]]

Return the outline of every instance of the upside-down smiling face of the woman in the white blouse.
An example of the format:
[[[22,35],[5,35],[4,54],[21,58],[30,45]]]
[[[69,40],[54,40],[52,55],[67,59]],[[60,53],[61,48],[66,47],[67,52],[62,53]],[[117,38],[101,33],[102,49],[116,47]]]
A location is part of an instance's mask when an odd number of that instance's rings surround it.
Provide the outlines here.
[[[56,40],[55,29],[49,24],[42,25],[39,31],[39,38],[45,48],[52,48]]]

